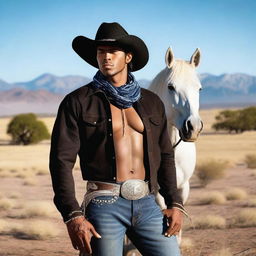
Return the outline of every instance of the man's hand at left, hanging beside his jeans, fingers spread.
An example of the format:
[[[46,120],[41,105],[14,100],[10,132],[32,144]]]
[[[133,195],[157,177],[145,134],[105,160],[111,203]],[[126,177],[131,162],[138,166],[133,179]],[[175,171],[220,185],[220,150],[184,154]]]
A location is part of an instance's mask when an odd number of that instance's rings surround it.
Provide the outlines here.
[[[83,216],[68,222],[67,229],[73,247],[81,252],[91,254],[91,237],[95,236],[96,238],[101,238],[101,236],[94,229],[93,225]]]

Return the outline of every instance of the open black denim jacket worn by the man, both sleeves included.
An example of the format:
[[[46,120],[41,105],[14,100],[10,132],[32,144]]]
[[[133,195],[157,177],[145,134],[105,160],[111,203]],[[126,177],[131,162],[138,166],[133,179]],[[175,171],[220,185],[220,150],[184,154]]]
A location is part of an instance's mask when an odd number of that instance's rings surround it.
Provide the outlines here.
[[[146,179],[151,184],[158,181],[168,208],[174,204],[182,208],[164,105],[156,94],[141,89],[141,98],[133,107],[145,127]],[[71,212],[80,209],[72,175],[77,154],[84,180],[116,182],[112,134],[109,101],[91,83],[71,92],[61,102],[52,131],[50,171],[54,203],[64,221],[69,219]]]

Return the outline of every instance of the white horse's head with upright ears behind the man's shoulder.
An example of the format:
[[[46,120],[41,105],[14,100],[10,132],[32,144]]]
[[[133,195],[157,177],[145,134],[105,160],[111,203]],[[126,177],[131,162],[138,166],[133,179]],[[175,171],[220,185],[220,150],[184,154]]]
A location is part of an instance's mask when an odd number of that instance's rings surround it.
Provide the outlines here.
[[[174,58],[171,48],[165,55],[166,68],[158,74],[149,89],[155,91],[165,104],[168,121],[179,131],[183,141],[193,142],[203,128],[199,116],[201,83],[196,73],[200,50],[196,49],[190,61]]]

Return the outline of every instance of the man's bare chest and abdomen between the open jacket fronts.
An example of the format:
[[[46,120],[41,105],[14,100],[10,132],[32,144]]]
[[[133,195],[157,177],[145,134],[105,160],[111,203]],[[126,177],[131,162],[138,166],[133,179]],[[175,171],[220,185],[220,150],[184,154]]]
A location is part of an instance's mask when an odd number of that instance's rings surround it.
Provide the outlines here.
[[[116,155],[117,181],[145,179],[144,125],[134,108],[119,109],[110,105]]]

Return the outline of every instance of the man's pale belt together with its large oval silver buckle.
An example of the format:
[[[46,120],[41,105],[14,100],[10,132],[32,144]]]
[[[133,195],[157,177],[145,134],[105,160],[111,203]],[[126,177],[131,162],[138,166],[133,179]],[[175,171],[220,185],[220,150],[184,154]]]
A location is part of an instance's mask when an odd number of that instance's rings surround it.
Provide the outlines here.
[[[149,194],[148,182],[139,179],[126,180],[121,184],[101,181],[87,182],[87,193],[100,190],[110,191],[127,200],[138,200]]]

